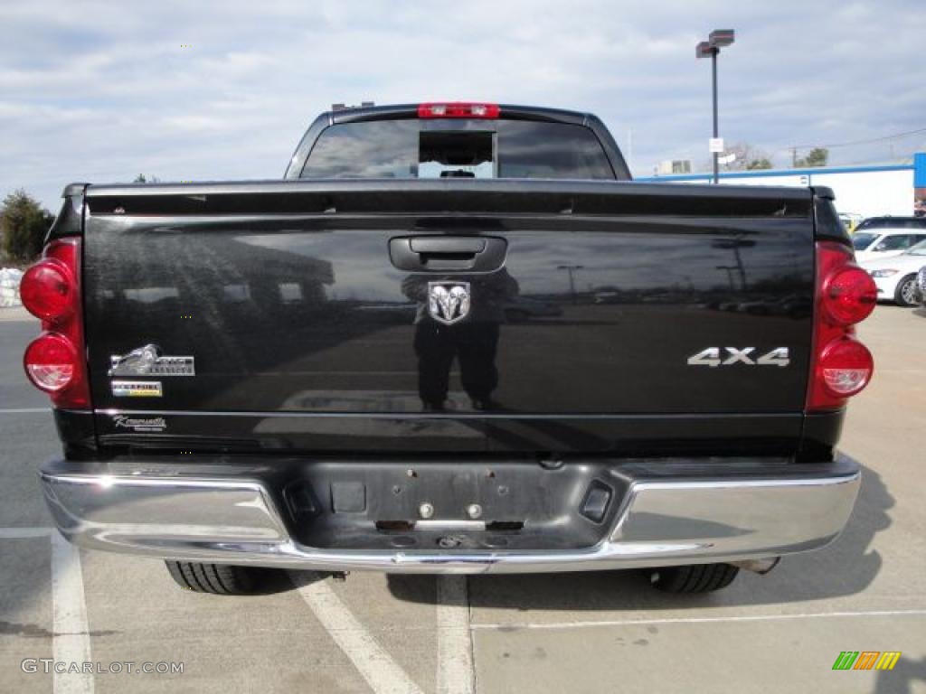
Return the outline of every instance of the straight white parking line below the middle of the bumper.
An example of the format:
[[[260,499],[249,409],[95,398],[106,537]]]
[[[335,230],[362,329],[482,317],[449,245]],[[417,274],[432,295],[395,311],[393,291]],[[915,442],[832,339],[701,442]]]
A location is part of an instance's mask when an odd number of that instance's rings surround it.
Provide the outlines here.
[[[473,691],[466,576],[437,576],[437,694]]]

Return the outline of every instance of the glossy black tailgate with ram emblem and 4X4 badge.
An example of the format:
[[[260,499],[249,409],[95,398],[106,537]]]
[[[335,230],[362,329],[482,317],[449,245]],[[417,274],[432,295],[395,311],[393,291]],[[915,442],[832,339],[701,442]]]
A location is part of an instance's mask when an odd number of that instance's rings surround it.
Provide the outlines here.
[[[86,195],[104,443],[793,451],[800,436],[807,190],[416,180]],[[154,368],[115,366],[146,345]]]

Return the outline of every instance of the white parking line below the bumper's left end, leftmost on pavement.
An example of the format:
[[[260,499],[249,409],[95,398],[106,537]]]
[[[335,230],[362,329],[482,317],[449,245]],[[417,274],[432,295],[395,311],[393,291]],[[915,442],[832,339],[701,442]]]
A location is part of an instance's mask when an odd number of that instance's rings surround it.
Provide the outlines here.
[[[52,656],[58,663],[90,663],[81,554],[59,533],[52,535],[52,603]],[[53,690],[55,694],[93,694],[94,675],[56,670]]]

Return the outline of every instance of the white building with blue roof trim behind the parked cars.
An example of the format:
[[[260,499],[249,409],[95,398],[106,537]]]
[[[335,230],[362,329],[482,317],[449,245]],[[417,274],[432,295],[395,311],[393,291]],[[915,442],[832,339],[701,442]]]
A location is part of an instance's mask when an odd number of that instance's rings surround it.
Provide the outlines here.
[[[680,174],[637,178],[657,183],[709,183],[711,175]],[[836,193],[836,208],[862,217],[909,217],[926,204],[926,153],[912,164],[870,167],[819,167],[728,171],[720,184],[827,186]]]

